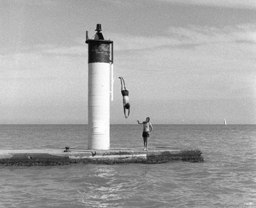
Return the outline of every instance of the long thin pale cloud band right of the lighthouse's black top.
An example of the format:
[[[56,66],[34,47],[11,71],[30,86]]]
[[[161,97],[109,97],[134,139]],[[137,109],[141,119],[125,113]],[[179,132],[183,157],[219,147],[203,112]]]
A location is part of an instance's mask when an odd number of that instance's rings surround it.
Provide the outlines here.
[[[227,42],[256,44],[256,25],[244,24],[223,28],[190,25],[170,27],[164,36],[131,36],[119,33],[112,33],[109,36],[118,36],[118,39],[114,40],[115,51],[148,50],[157,47],[190,48],[202,44]]]

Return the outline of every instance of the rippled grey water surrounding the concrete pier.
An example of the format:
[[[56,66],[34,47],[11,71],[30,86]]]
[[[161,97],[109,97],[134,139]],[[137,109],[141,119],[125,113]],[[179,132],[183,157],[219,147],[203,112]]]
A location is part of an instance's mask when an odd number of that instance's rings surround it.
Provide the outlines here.
[[[256,207],[256,125],[153,125],[150,147],[200,148],[204,163],[0,166],[0,207]],[[111,125],[141,147],[141,125]],[[0,149],[87,148],[87,125],[0,125]]]

